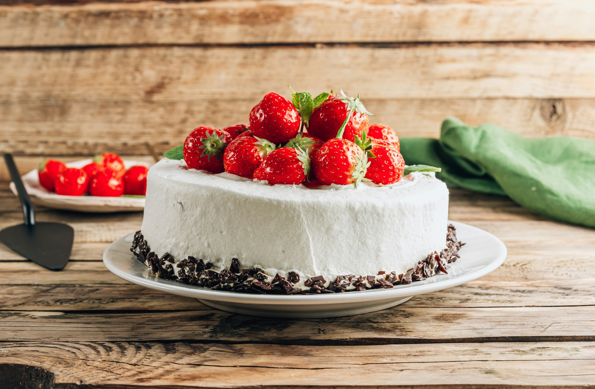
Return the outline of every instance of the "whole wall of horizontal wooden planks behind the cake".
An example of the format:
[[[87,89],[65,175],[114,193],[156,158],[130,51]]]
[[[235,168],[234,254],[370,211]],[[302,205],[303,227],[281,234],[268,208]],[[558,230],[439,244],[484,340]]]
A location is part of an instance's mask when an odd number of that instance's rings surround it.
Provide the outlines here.
[[[595,4],[261,0],[0,6],[0,151],[147,155],[274,90],[361,93],[400,136],[444,117],[595,138]],[[0,179],[6,178],[0,165]]]

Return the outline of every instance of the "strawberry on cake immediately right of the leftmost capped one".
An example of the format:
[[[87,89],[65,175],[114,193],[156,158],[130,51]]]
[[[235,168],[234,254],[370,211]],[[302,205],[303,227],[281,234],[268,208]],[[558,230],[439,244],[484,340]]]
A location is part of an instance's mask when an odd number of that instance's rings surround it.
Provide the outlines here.
[[[227,146],[223,155],[225,171],[252,178],[262,159],[275,149],[275,145],[256,136],[241,136]]]

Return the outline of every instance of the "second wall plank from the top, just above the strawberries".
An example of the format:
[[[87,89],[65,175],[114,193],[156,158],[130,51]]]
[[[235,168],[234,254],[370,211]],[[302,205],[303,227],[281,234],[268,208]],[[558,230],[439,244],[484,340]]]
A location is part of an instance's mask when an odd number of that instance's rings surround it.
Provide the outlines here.
[[[595,98],[594,61],[590,42],[4,50],[0,101],[255,103],[287,84],[363,99]]]

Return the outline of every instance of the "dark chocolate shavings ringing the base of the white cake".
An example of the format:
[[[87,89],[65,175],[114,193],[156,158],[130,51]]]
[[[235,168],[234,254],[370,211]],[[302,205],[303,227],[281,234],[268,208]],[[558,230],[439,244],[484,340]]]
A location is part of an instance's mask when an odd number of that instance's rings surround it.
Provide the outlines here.
[[[320,293],[341,293],[347,291],[361,291],[378,288],[392,288],[397,285],[407,285],[414,281],[423,281],[439,273],[447,274],[446,269],[449,263],[461,258],[459,250],[465,243],[456,239],[456,228],[450,224],[447,227],[446,247],[440,252],[433,252],[419,261],[417,266],[408,269],[404,274],[397,274],[392,271],[386,273],[379,271],[378,275],[353,274],[339,275],[331,281],[327,287],[327,281],[322,275],[308,278],[304,286],[309,289],[296,287],[300,277],[296,272],[289,272],[287,279],[275,274],[271,282],[268,282],[268,275],[260,268],[249,268],[240,270],[240,263],[237,258],[231,259],[229,269],[221,272],[211,270],[212,262],[196,259],[193,256],[177,264],[170,253],[165,253],[159,258],[149,249],[149,244],[140,231],[134,233],[134,239],[130,251],[140,262],[149,266],[152,273],[164,280],[176,280],[184,284],[201,286],[212,290],[225,290],[240,293],[260,294],[320,294]],[[179,269],[178,274],[174,272],[173,266]],[[351,288],[350,288],[351,287]]]

